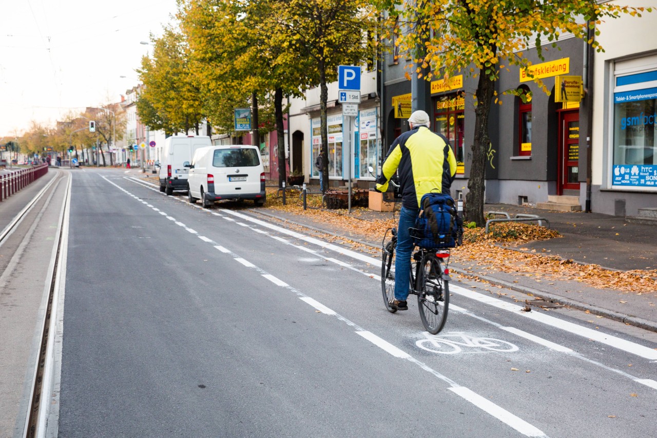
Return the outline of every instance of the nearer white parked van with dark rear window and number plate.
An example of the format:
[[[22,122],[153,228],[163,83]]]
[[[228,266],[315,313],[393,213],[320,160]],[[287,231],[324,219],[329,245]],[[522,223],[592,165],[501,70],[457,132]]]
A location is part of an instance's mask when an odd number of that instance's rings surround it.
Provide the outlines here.
[[[196,149],[189,168],[189,202],[201,200],[208,207],[220,199],[253,199],[265,203],[265,168],[260,150],[248,145],[223,145]]]

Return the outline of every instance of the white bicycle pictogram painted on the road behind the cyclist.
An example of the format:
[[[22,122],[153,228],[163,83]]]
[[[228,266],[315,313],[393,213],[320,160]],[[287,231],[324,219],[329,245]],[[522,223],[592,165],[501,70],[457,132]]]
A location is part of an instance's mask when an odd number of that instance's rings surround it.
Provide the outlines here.
[[[431,353],[456,354],[461,353],[461,347],[470,347],[472,349],[498,351],[501,353],[511,353],[518,351],[518,346],[501,339],[492,337],[476,337],[466,335],[463,331],[450,331],[440,336],[426,335],[425,339],[420,339],[415,343],[420,349],[430,351]],[[474,353],[474,352],[473,352]]]

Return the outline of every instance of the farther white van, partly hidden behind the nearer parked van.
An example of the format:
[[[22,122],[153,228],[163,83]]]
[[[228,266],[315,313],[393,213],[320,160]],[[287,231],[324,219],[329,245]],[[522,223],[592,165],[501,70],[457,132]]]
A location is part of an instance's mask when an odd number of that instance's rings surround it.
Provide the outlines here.
[[[212,145],[207,135],[171,135],[164,140],[162,161],[155,162],[160,168],[160,191],[173,195],[174,190],[187,190],[187,173],[183,167],[185,161],[192,159],[199,147]]]

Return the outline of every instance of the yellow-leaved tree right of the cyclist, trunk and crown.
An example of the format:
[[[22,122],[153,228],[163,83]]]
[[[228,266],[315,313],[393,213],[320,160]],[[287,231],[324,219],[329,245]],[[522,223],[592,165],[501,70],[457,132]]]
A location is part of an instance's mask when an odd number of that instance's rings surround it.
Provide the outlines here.
[[[622,13],[641,16],[643,11],[593,0],[375,1],[391,19],[399,16],[405,21],[406,32],[397,36],[397,43],[401,51],[413,55],[412,74],[430,80],[434,73],[424,72],[438,66],[436,74],[445,80],[463,72],[478,78],[472,167],[464,209],[466,220],[478,225],[484,224],[489,114],[491,105],[499,102],[495,82],[505,64],[527,68],[531,62],[523,57],[524,50],[535,44],[543,60],[541,41],[547,39],[556,47],[558,38],[566,34],[584,39],[601,51],[597,41],[589,38],[589,28],[593,29],[601,18],[617,18]],[[535,82],[549,93],[541,80]]]

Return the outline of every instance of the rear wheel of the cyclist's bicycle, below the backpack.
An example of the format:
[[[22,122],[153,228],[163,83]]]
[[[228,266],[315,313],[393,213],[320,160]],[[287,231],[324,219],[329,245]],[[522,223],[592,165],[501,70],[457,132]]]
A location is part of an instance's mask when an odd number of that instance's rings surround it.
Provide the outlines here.
[[[417,306],[426,331],[435,335],[447,321],[449,281],[443,278],[442,266],[434,256],[422,258],[420,266]]]

